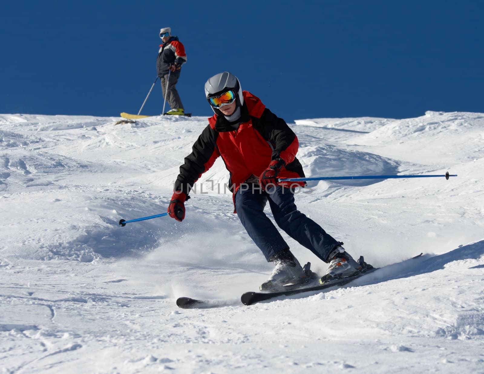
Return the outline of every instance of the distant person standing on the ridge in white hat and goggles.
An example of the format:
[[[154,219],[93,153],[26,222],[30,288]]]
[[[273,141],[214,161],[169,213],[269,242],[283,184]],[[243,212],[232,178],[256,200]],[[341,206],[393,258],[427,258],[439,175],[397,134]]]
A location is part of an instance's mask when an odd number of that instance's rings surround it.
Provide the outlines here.
[[[183,115],[185,111],[175,85],[180,78],[181,65],[186,62],[185,47],[178,40],[178,36],[171,36],[171,28],[169,27],[160,30],[160,38],[163,44],[160,44],[158,51],[156,69],[158,77],[160,77],[163,97],[166,97],[166,101],[171,108],[166,114]],[[168,80],[169,71],[171,72]],[[168,80],[168,88],[166,88],[166,80]]]

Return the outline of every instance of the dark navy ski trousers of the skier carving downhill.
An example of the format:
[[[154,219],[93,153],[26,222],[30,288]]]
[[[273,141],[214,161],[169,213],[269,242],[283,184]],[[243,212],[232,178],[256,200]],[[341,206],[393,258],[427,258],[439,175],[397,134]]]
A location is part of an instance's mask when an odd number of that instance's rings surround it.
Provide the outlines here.
[[[247,234],[267,260],[275,253],[289,248],[264,213],[264,207],[268,201],[277,225],[321,260],[326,262],[329,253],[341,244],[296,208],[294,193],[289,188],[277,186],[271,191],[272,193],[268,193],[259,188],[252,188],[252,185],[245,190],[242,187],[235,194],[237,215]]]

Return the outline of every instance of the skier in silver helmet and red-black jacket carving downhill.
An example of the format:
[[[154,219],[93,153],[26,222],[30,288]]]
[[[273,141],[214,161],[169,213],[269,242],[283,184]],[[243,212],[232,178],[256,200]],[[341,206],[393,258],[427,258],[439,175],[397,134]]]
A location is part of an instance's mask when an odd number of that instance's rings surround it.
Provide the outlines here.
[[[205,83],[205,96],[215,114],[180,167],[169,216],[180,222],[185,218],[184,203],[191,186],[222,156],[230,172],[237,215],[267,261],[275,265],[261,290],[300,283],[305,277],[286,241],[264,214],[267,202],[282,230],[329,263],[323,280],[358,273],[361,267],[341,247],[343,243],[297,210],[293,188],[278,182],[278,178],[304,177],[296,158],[299,142],[286,122],[256,96],[242,91],[239,79],[228,72]]]

